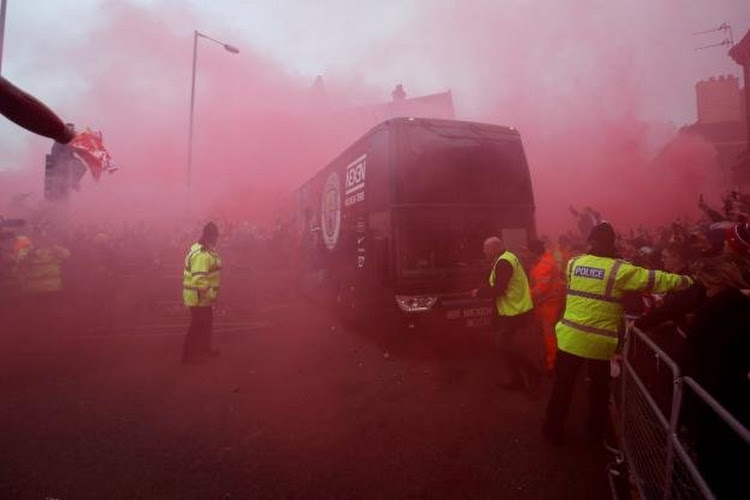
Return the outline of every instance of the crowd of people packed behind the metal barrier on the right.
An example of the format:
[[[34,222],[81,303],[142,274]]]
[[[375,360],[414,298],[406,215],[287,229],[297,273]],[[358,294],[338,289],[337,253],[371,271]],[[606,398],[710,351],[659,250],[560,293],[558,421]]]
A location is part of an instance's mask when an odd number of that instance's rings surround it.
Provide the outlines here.
[[[681,375],[693,378],[750,428],[750,196],[732,191],[721,210],[702,198],[699,207],[703,219],[618,235],[619,257],[693,279],[686,289],[625,297],[625,311],[677,363]],[[577,214],[579,227],[588,224],[591,213]],[[561,247],[575,248],[581,236],[563,236]],[[659,402],[670,400],[671,387],[646,383]],[[681,429],[701,472],[719,496],[736,491],[750,467],[750,450],[705,403],[691,393],[685,398]],[[728,454],[735,458],[720,460]]]

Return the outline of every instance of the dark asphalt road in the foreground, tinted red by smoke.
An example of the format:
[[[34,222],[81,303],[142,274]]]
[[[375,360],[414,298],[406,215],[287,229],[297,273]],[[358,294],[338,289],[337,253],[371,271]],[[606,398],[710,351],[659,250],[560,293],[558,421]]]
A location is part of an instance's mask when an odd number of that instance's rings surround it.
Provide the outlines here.
[[[486,335],[394,342],[290,301],[218,318],[221,356],[185,367],[184,329],[0,336],[0,498],[609,497],[580,402],[546,445],[549,382],[504,391]]]

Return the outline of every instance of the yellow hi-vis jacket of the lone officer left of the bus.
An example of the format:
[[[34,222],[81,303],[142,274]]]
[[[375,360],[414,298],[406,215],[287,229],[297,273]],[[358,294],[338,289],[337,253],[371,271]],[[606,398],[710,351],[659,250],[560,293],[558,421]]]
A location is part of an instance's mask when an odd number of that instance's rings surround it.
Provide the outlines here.
[[[185,257],[182,273],[182,301],[187,307],[210,307],[219,294],[221,258],[200,243],[193,244]]]

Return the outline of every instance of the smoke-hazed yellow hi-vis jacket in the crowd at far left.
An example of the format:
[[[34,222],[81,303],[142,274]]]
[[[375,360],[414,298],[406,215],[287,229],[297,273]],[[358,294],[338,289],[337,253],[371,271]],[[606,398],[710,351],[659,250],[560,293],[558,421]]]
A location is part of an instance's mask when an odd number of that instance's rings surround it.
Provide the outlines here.
[[[70,257],[70,251],[57,245],[29,251],[18,266],[21,290],[25,293],[62,290],[60,266],[68,257]]]

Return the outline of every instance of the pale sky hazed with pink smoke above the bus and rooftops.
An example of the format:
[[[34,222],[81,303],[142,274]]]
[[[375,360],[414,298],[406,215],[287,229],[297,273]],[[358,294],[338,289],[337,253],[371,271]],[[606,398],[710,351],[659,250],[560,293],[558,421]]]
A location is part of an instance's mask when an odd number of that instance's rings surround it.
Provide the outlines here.
[[[695,121],[697,81],[741,75],[726,47],[695,50],[723,35],[692,33],[724,22],[739,40],[747,1],[8,0],[2,69],[66,120],[102,130],[115,159],[143,174],[184,162],[193,30],[236,46],[199,46],[196,164],[220,159],[217,190],[238,175],[298,184],[346,145],[348,131],[300,101],[317,75],[340,108],[385,101],[397,83],[410,96],[450,89],[457,118],[521,130],[544,214],[570,198],[606,204],[602,161],[645,165]],[[38,181],[48,149],[0,122],[0,172]],[[574,177],[583,187],[560,193]]]

